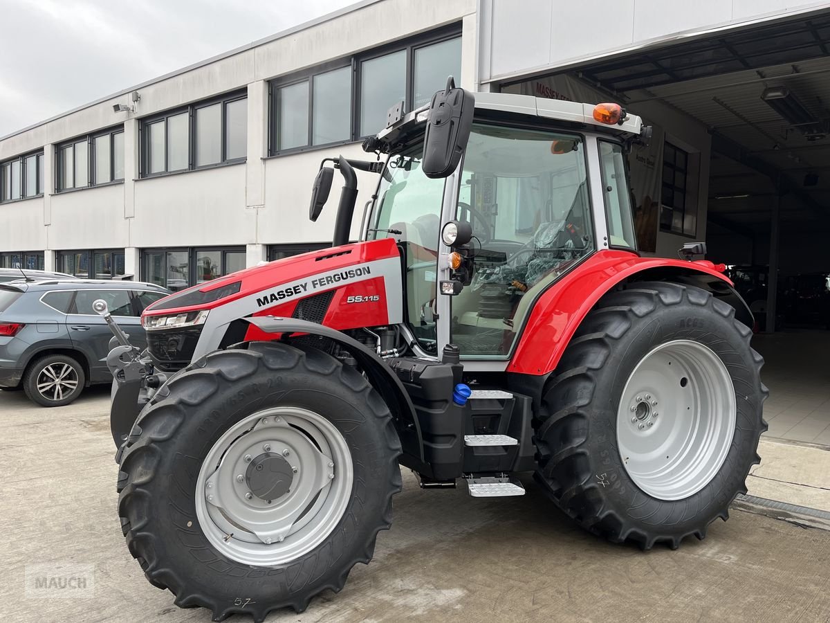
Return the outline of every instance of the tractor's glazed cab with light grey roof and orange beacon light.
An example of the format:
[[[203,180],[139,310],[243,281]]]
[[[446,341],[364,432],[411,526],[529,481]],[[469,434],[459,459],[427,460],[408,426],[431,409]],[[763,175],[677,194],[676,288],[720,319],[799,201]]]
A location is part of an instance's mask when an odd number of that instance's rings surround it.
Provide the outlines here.
[[[636,253],[625,153],[642,121],[613,104],[481,93],[463,142],[437,145],[447,141],[427,133],[437,105],[390,112],[364,144],[387,155],[364,238],[398,243],[404,330],[418,355],[453,343],[466,361],[505,361],[559,277],[598,250]],[[430,150],[457,159],[430,171]]]

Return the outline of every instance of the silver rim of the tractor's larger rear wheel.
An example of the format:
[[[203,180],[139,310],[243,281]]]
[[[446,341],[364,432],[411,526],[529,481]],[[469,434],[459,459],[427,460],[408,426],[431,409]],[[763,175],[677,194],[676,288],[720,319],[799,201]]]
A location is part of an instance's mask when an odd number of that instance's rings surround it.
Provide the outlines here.
[[[696,341],[666,342],[628,377],[617,412],[620,459],[652,498],[688,498],[723,465],[735,413],[735,387],[720,357]]]

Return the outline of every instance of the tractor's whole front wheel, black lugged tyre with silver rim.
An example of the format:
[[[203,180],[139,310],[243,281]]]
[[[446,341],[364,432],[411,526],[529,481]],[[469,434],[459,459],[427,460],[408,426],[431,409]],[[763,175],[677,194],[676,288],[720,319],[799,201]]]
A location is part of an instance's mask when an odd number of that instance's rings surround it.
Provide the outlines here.
[[[173,376],[122,448],[129,552],[182,607],[221,621],[304,611],[368,563],[401,488],[378,393],[325,353],[254,342]]]

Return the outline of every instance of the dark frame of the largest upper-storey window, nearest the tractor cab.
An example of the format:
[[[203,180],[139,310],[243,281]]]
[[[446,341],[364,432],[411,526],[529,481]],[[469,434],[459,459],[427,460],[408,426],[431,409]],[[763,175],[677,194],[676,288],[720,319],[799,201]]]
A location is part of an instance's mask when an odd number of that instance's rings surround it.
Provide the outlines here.
[[[349,145],[364,140],[367,136],[360,134],[360,81],[362,63],[364,61],[372,61],[382,56],[394,54],[395,52],[406,51],[406,76],[405,76],[405,99],[404,110],[410,112],[413,110],[413,92],[415,86],[415,51],[423,47],[430,47],[437,43],[449,41],[461,37],[461,23],[455,22],[448,26],[437,28],[430,32],[425,32],[415,37],[409,37],[403,42],[393,42],[381,47],[375,47],[367,52],[345,56],[335,61],[329,61],[305,69],[303,71],[296,71],[286,76],[280,76],[268,82],[268,158],[275,158],[281,155],[299,154],[305,151],[321,150],[335,145]],[[336,71],[344,67],[351,67],[351,99],[349,105],[351,111],[349,115],[349,138],[346,140],[335,140],[330,143],[321,143],[320,145],[313,145],[314,140],[314,77],[320,74],[328,73],[329,71]],[[460,76],[455,76],[460,79]],[[308,110],[308,142],[306,145],[299,147],[291,147],[286,150],[280,150],[279,145],[279,106],[278,92],[284,86],[292,86],[300,82],[308,82],[309,86],[309,110]],[[394,102],[389,102],[389,106],[393,106]],[[381,130],[381,128],[378,128]]]

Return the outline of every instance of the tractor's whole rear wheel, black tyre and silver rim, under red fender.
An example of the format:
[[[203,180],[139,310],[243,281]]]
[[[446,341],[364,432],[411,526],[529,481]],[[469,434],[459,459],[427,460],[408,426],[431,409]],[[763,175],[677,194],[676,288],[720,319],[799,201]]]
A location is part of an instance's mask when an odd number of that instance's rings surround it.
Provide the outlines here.
[[[759,462],[764,360],[735,310],[696,287],[628,284],[586,316],[536,419],[554,502],[643,549],[703,538]]]

